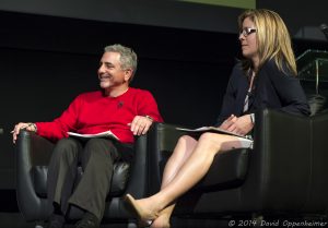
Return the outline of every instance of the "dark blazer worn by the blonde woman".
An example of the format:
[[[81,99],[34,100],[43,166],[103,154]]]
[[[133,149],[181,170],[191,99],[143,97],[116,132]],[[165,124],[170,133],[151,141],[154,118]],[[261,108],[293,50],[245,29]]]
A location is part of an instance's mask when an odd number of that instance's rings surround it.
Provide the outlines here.
[[[254,113],[265,108],[304,116],[311,113],[298,79],[280,71],[273,60],[261,67],[254,85],[246,113]],[[220,125],[232,113],[237,117],[245,115],[243,108],[248,87],[248,79],[242,70],[242,64],[237,63],[230,77],[216,125]]]

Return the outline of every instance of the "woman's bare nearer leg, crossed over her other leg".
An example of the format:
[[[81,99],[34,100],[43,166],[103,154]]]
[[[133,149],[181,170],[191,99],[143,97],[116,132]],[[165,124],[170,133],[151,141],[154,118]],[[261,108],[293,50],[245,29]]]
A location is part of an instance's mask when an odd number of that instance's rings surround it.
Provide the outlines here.
[[[241,147],[241,143],[235,136],[215,133],[202,134],[191,155],[178,169],[173,180],[159,193],[139,200],[138,205],[147,209],[149,212],[147,214],[160,213],[203,178],[219,152],[237,147]]]

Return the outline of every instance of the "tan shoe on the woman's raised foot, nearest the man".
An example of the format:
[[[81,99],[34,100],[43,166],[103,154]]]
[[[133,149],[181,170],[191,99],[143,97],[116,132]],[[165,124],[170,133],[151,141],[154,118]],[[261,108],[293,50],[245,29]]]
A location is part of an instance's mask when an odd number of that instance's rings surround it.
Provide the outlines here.
[[[126,194],[124,201],[127,204],[127,208],[139,220],[139,227],[149,227],[159,215],[156,213],[151,214],[145,212],[130,194]]]

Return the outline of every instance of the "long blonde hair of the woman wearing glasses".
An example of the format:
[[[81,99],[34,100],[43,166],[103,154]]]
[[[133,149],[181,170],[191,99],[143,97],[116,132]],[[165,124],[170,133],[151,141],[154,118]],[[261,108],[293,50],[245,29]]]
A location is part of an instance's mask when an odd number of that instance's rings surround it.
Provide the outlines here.
[[[285,68],[297,74],[295,56],[292,49],[292,41],[289,31],[280,15],[271,10],[255,9],[246,10],[238,17],[239,31],[243,29],[243,22],[248,17],[256,26],[257,47],[259,55],[259,68],[268,60],[273,59],[278,69]],[[250,69],[250,60],[242,60],[243,70]]]

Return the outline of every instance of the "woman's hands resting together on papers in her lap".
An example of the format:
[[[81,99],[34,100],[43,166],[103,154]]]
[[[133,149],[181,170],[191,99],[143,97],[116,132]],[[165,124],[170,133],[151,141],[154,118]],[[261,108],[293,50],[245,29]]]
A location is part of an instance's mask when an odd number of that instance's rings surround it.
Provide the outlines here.
[[[254,124],[251,122],[250,115],[244,115],[242,117],[232,115],[220,125],[220,129],[246,135],[251,131],[253,127]]]

